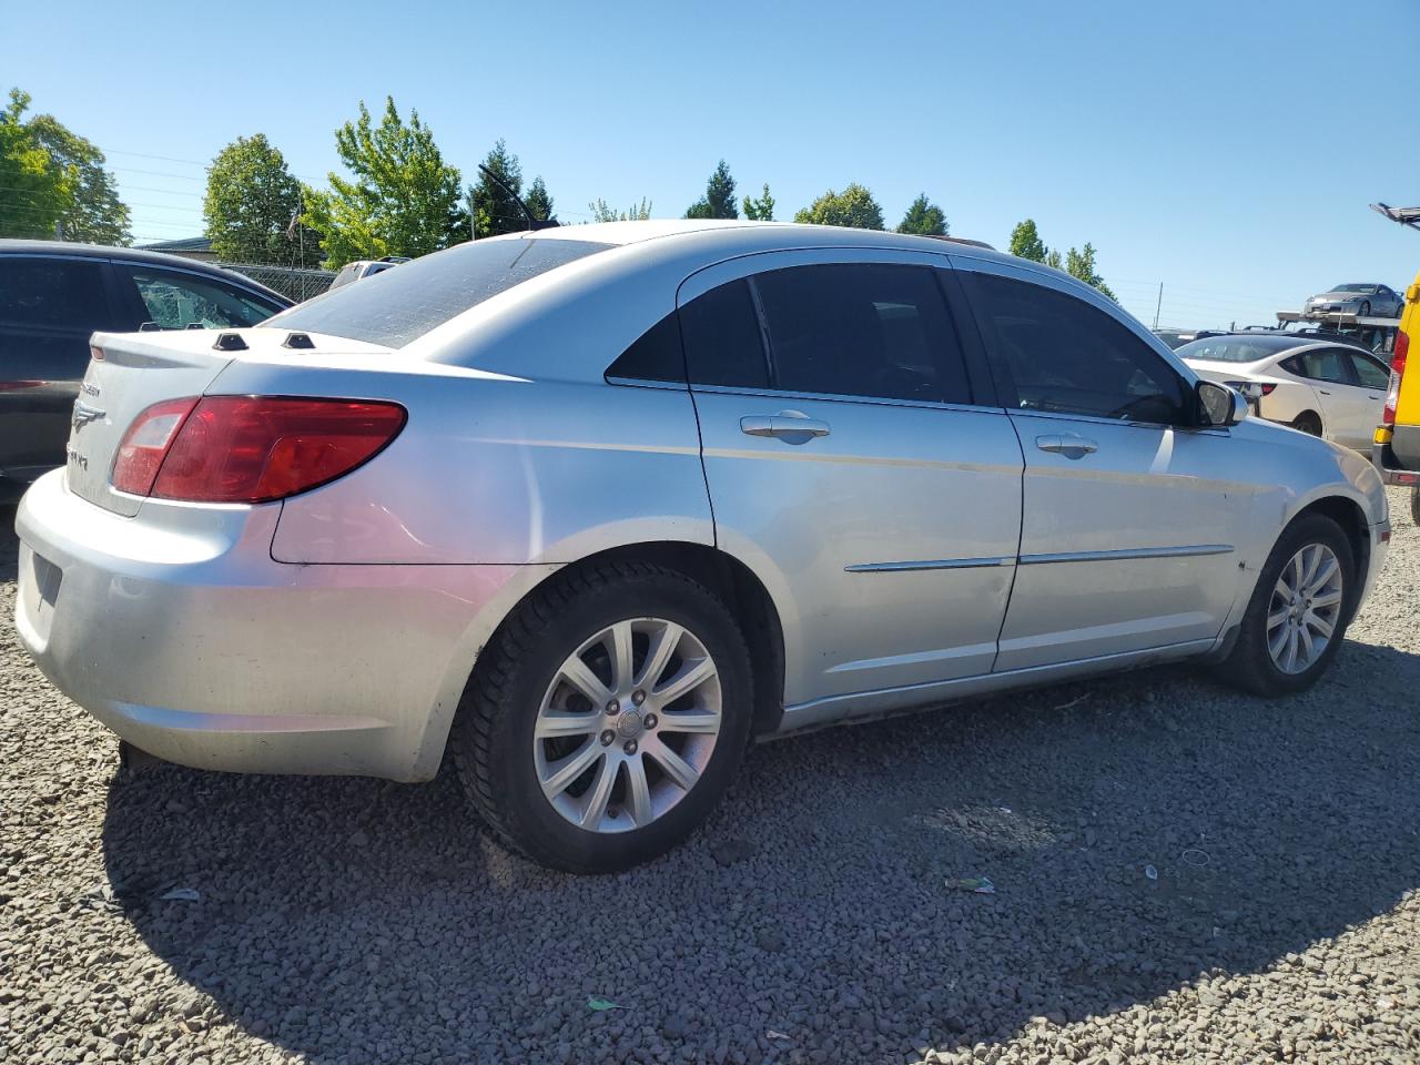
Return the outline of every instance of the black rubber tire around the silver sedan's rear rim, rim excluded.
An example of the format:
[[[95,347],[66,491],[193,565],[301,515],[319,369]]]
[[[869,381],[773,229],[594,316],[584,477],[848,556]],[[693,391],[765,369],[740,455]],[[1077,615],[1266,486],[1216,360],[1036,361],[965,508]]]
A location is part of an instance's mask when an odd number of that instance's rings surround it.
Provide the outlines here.
[[[534,767],[534,724],[564,660],[601,629],[655,616],[690,629],[714,660],[721,724],[696,784],[665,814],[625,832],[591,832],[544,797]],[[734,618],[709,589],[673,569],[602,562],[559,575],[528,596],[484,649],[449,743],[479,814],[513,849],[574,873],[649,862],[686,839],[724,797],[748,746],[750,652]]]

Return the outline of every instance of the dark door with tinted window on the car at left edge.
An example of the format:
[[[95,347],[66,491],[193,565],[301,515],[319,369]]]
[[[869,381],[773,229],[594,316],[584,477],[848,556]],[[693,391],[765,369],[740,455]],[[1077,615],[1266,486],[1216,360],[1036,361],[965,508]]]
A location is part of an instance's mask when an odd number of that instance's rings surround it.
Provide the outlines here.
[[[64,464],[89,334],[121,324],[108,271],[102,258],[0,256],[0,479]]]

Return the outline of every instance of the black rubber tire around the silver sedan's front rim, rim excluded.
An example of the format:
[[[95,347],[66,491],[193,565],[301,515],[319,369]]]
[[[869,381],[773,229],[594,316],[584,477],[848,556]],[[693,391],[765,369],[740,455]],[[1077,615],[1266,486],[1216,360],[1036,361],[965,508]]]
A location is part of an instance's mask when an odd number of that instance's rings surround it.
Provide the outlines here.
[[[1316,660],[1301,673],[1285,673],[1272,662],[1267,649],[1267,612],[1282,567],[1308,544],[1325,544],[1336,555],[1342,571],[1342,608],[1336,629]],[[1350,623],[1356,596],[1360,592],[1356,579],[1353,548],[1340,525],[1322,514],[1306,514],[1294,521],[1278,537],[1272,552],[1267,557],[1267,564],[1257,579],[1257,588],[1248,601],[1247,612],[1242,615],[1237,643],[1218,666],[1220,676],[1258,696],[1275,697],[1309,689],[1326,672],[1331,660],[1336,657],[1340,642],[1346,638],[1346,626]]]

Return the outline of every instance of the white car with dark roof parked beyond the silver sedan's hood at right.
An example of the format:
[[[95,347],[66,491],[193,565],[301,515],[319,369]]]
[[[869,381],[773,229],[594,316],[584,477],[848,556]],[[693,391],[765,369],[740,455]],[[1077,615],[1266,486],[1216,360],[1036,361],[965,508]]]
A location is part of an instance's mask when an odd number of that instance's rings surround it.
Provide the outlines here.
[[[1342,339],[1238,332],[1174,352],[1200,378],[1237,389],[1260,417],[1369,452],[1390,369]]]

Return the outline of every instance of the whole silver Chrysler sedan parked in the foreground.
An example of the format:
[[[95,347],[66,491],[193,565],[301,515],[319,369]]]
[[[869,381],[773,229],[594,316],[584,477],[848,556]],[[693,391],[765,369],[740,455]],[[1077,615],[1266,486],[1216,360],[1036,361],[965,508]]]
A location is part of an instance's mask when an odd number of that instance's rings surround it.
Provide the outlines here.
[[[684,838],[753,737],[1176,659],[1336,653],[1360,456],[1245,417],[1062,273],[920,237],[609,223],[261,328],[94,337],[18,510],[18,632],[121,737],[435,775],[579,872]]]

